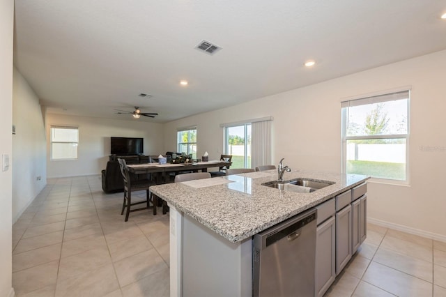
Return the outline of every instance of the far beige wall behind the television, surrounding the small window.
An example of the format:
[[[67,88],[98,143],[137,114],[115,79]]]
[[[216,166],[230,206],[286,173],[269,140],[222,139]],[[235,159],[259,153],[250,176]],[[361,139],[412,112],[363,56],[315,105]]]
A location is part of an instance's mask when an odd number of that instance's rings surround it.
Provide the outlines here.
[[[164,134],[161,123],[137,120],[116,121],[81,116],[47,114],[47,139],[51,125],[79,127],[77,160],[51,160],[47,145],[47,176],[82,176],[100,174],[110,155],[110,137],[144,137],[144,154],[159,155],[164,151]]]

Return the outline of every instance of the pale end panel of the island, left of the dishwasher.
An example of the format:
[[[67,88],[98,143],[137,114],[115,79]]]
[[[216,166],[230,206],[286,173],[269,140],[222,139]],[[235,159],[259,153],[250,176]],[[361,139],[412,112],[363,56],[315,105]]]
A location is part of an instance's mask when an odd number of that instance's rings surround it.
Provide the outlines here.
[[[171,296],[252,296],[251,238],[231,243],[169,207]]]

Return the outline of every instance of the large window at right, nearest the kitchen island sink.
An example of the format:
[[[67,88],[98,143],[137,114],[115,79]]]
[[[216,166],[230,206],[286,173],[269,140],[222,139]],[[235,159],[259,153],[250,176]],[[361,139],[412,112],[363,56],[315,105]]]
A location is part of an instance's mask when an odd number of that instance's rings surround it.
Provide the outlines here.
[[[410,91],[342,102],[343,171],[407,181]]]

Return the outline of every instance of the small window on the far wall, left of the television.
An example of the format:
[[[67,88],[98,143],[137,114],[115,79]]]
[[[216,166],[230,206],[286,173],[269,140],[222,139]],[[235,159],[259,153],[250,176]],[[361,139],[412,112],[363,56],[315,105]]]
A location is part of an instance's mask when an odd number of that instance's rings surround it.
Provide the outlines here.
[[[79,131],[77,127],[50,128],[51,160],[76,160]]]

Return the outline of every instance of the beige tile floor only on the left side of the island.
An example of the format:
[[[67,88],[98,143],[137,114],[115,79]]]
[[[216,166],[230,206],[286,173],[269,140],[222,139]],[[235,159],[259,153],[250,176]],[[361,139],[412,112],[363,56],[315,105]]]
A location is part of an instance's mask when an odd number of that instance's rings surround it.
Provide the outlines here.
[[[100,176],[48,180],[13,225],[16,296],[169,296],[169,215],[122,203]]]

